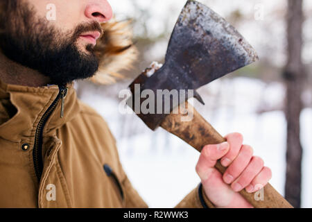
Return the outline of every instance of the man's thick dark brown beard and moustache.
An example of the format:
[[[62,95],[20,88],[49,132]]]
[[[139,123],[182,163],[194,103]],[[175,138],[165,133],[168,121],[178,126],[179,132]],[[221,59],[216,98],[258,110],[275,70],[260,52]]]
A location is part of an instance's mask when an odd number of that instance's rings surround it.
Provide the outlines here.
[[[49,77],[51,84],[65,85],[94,76],[98,58],[93,45],[88,44],[87,52],[83,52],[76,43],[82,33],[102,32],[97,22],[80,24],[73,32],[62,33],[46,19],[36,19],[28,4],[12,2],[8,3],[12,8],[3,18],[5,32],[0,35],[4,55]]]

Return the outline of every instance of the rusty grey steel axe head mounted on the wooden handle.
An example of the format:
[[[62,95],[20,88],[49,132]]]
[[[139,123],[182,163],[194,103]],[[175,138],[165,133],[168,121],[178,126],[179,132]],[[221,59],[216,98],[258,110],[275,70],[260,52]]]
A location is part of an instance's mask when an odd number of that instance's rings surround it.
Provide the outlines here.
[[[128,105],[135,110],[135,85],[139,92],[150,89],[193,89],[210,83],[258,59],[257,53],[236,29],[216,12],[197,1],[187,1],[171,35],[164,66],[149,78],[141,74],[130,85],[132,98]],[[194,97],[202,102],[194,91]],[[189,99],[189,96],[186,96]],[[155,107],[157,106],[157,99]],[[139,102],[144,102],[139,99]],[[203,103],[203,102],[202,102]],[[178,104],[169,108],[173,110]],[[166,114],[157,112],[138,116],[155,130]]]

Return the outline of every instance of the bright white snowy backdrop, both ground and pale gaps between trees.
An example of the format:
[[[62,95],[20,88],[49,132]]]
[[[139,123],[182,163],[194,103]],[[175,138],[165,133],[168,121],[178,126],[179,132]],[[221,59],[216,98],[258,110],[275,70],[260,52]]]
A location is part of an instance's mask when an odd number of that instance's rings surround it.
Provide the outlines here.
[[[135,17],[135,8],[130,1],[111,0],[116,16]],[[231,10],[239,8],[248,15],[254,15],[255,6],[264,7],[264,19],[241,24],[239,31],[259,52],[261,60],[273,60],[277,65],[284,65],[283,51],[284,23],[275,18],[275,12],[284,10],[286,1],[201,1],[220,15],[226,16]],[[311,2],[305,1],[305,8],[311,11]],[[150,35],[161,31],[164,23],[173,28],[175,20],[184,6],[182,0],[136,0],[137,6],[151,8]],[[165,14],[171,13],[172,19],[164,21]],[[270,30],[263,30],[270,24]],[[311,27],[311,19],[304,26]],[[267,28],[266,28],[267,29]],[[306,30],[307,28],[305,28]],[[267,32],[274,32],[266,37]],[[311,64],[311,31],[305,31],[307,41],[304,47],[304,62]],[[273,36],[273,37],[272,37]],[[169,36],[168,36],[169,37]],[[166,41],[168,41],[168,37]],[[279,39],[280,37],[280,39]],[[276,48],[270,49],[270,42]],[[152,62],[166,52],[167,42],[155,44],[146,58]],[[269,52],[269,53],[268,53]],[[311,74],[311,73],[310,73]],[[311,75],[310,75],[311,76]],[[109,124],[118,142],[121,162],[134,187],[150,207],[174,207],[200,182],[195,172],[199,153],[189,145],[162,129],[149,130],[135,114],[120,114],[118,94],[131,80],[98,87],[88,84],[87,90],[80,97],[96,109]],[[254,148],[255,155],[265,160],[272,169],[270,183],[284,194],[286,172],[286,119],[282,110],[285,87],[275,80],[263,81],[256,78],[236,77],[221,78],[199,90],[206,105],[194,101],[198,111],[222,134],[239,132],[244,136],[245,144]],[[305,102],[312,103],[311,87],[304,92]],[[272,112],[259,112],[266,107]],[[309,106],[308,106],[309,107]],[[311,107],[311,106],[310,106]],[[302,162],[302,207],[312,207],[312,108],[305,108],[301,114],[301,142],[304,148]]]

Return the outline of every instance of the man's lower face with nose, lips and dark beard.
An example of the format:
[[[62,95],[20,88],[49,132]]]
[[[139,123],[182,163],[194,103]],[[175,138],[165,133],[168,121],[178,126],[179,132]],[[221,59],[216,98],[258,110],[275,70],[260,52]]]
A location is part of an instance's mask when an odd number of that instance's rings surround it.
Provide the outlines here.
[[[65,85],[89,78],[98,69],[93,51],[103,34],[100,24],[112,18],[112,8],[102,1],[10,0],[0,46],[13,62]],[[55,21],[46,18],[54,4]],[[3,56],[2,56],[3,57]],[[24,73],[19,70],[17,73]],[[16,78],[11,74],[12,78]],[[3,77],[3,74],[2,74]],[[10,76],[5,76],[10,80]]]

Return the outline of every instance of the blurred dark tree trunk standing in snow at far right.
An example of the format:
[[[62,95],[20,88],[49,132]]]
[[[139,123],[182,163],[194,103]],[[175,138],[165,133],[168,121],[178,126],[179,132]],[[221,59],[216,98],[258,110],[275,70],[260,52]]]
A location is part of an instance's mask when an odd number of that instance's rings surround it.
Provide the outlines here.
[[[285,67],[286,119],[287,119],[287,169],[285,198],[294,206],[300,207],[302,146],[300,143],[300,113],[302,111],[302,0],[288,0],[287,39],[288,62]]]

